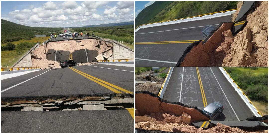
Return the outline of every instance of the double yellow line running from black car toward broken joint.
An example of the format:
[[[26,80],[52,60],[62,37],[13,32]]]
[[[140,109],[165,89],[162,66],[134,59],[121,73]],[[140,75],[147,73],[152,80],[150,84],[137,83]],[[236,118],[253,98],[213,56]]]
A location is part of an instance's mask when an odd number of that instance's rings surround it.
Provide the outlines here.
[[[72,68],[72,67],[69,67],[69,68],[70,68],[71,70],[73,70],[74,72],[76,72],[76,73],[78,73],[78,74],[80,74],[80,75],[86,77],[87,79],[89,79],[89,80],[91,80],[91,81],[93,81],[93,82],[95,82],[95,83],[97,83],[97,84],[99,84],[99,85],[101,85],[101,86],[103,86],[103,87],[105,87],[105,88],[111,90],[112,92],[115,92],[115,93],[129,93],[129,94],[133,94],[133,92],[131,92],[131,91],[128,91],[128,90],[126,90],[126,89],[123,89],[123,88],[121,88],[121,87],[118,87],[118,86],[116,86],[116,85],[113,85],[113,84],[111,84],[111,83],[108,83],[108,82],[106,82],[106,81],[103,81],[103,80],[101,80],[101,79],[98,79],[98,78],[96,78],[96,77],[94,77],[94,76],[88,75],[87,73],[81,72],[81,71],[79,71],[79,70],[77,70],[77,69],[75,69],[75,68]]]

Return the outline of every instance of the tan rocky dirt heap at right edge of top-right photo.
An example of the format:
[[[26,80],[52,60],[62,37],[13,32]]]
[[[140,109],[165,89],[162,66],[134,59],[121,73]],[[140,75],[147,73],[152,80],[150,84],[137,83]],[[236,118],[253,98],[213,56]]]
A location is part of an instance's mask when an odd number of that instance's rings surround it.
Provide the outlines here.
[[[247,15],[246,27],[238,32],[226,53],[222,66],[268,66],[268,1],[262,1]],[[229,42],[225,38],[224,42]]]

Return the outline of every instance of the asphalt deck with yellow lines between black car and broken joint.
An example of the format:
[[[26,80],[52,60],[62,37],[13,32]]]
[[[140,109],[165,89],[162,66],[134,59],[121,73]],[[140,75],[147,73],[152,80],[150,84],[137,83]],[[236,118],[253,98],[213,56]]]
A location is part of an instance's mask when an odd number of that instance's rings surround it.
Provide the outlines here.
[[[35,78],[31,79],[33,77]],[[111,93],[133,94],[133,84],[134,70],[132,67],[97,64],[55,68],[1,80],[1,98]]]

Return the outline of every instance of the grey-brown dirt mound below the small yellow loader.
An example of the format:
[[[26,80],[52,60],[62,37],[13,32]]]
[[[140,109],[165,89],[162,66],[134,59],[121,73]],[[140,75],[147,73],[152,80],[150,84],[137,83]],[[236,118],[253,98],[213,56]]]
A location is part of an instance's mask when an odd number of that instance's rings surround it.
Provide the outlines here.
[[[141,83],[138,84],[134,90],[135,91],[148,91],[155,95],[158,95],[162,87],[162,83],[156,82],[156,83]]]

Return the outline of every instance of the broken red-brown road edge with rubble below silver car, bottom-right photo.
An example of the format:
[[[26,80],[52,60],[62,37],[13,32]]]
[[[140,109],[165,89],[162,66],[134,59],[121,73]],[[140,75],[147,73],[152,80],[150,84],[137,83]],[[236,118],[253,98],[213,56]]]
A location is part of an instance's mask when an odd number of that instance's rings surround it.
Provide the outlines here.
[[[147,91],[135,92],[135,96],[135,130],[139,133],[268,133],[268,125],[261,125],[264,123],[261,121],[226,121],[229,122],[227,125],[224,121],[209,121],[208,128],[197,128],[192,122],[209,120],[209,116],[197,107],[162,101]],[[238,128],[243,122],[248,124],[242,129]]]

